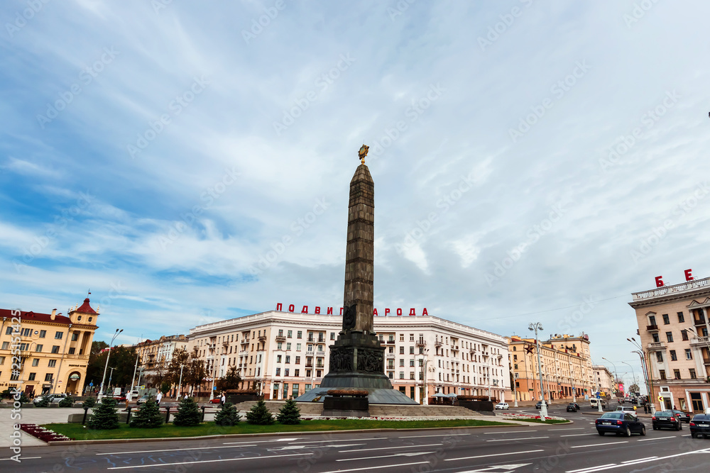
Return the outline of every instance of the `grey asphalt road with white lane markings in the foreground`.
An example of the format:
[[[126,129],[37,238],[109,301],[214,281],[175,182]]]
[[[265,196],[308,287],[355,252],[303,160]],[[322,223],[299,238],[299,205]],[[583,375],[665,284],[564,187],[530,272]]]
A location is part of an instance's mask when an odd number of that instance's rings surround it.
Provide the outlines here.
[[[562,409],[552,407],[551,413],[564,415]],[[9,455],[4,453],[0,471],[710,471],[710,440],[690,438],[687,424],[679,432],[655,431],[649,421],[645,437],[600,437],[594,429],[596,416],[569,413],[567,417],[575,423],[28,447],[19,464],[6,460]]]

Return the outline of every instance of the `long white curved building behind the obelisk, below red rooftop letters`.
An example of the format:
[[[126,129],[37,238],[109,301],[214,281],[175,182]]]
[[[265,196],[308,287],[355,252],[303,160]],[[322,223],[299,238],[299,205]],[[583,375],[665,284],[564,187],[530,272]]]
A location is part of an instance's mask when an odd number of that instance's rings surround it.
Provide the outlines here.
[[[339,315],[268,311],[192,328],[190,350],[212,377],[236,366],[245,389],[287,399],[320,386],[341,328]],[[394,389],[418,402],[437,393],[505,399],[510,389],[501,335],[429,315],[376,316],[374,328]]]

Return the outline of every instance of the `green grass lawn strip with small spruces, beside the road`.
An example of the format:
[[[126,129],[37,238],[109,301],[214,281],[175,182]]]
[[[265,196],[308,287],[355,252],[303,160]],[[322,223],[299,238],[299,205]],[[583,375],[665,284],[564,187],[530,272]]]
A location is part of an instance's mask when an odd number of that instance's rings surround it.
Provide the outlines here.
[[[197,427],[175,427],[172,424],[158,428],[130,428],[126,424],[115,430],[89,430],[78,423],[45,424],[74,440],[100,440],[107,438],[171,438],[199,437],[202,435],[226,435],[238,433],[308,432],[312,430],[354,430],[371,428],[447,428],[477,427],[481,425],[512,425],[504,422],[452,420],[452,421],[358,421],[355,419],[332,419],[330,421],[301,421],[297,425],[251,425],[241,422],[234,427],[222,427],[207,422]]]

